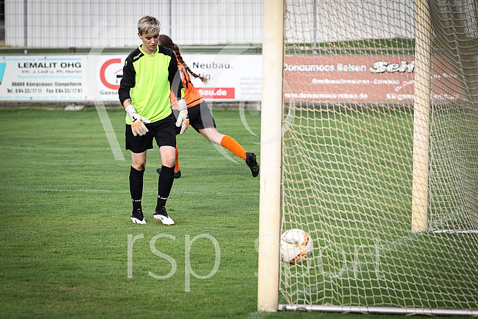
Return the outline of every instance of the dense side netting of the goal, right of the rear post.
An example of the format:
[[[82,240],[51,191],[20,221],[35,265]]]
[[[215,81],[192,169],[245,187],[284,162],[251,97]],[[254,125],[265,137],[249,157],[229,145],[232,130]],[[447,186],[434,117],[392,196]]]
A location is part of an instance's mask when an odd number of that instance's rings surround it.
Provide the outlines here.
[[[430,228],[477,230],[478,5],[442,0],[430,11],[432,98],[442,98],[433,100],[430,125]]]

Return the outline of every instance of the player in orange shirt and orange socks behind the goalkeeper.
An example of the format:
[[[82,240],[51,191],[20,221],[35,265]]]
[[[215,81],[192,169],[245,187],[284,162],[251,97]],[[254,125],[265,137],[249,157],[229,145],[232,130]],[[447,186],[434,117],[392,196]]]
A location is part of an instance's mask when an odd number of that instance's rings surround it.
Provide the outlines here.
[[[178,60],[178,68],[181,75],[182,86],[184,86],[184,89],[186,90],[186,102],[191,126],[194,127],[196,131],[202,134],[202,136],[204,136],[204,138],[209,140],[211,143],[221,145],[222,147],[229,149],[229,151],[231,151],[233,154],[236,154],[242,158],[251,169],[252,176],[258,176],[259,165],[256,161],[256,154],[247,152],[244,147],[242,147],[231,136],[220,134],[218,132],[218,129],[216,129],[216,122],[214,121],[209,107],[207,107],[207,103],[204,101],[202,95],[193,86],[188,73],[191,73],[191,75],[193,75],[195,78],[200,78],[200,80],[204,83],[207,82],[207,78],[199,76],[189,69],[189,66],[187,66],[187,64],[184,63],[184,60],[182,60],[178,45],[174,44],[170,37],[167,35],[160,35],[159,43],[160,46],[170,48]],[[172,93],[171,104],[173,105],[173,109],[178,109],[178,106],[176,105],[176,99]],[[175,113],[176,112],[177,111],[175,111]],[[157,172],[162,174],[162,167],[158,167]],[[176,147],[174,177],[178,179],[180,176],[181,170],[179,168],[178,162],[178,147]]]

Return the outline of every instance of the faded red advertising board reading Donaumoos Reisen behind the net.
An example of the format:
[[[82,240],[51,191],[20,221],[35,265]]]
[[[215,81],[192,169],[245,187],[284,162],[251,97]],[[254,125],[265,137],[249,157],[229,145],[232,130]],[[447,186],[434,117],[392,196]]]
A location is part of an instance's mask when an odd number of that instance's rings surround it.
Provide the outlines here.
[[[340,102],[413,102],[413,56],[287,56],[284,64],[286,100]],[[450,75],[432,74],[432,78]],[[457,100],[435,93],[432,98]]]

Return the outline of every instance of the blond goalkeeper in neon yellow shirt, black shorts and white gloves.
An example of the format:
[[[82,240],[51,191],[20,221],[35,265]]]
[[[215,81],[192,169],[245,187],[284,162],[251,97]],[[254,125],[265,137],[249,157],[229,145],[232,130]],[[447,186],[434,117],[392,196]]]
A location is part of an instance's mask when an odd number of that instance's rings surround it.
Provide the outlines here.
[[[141,206],[143,174],[146,152],[153,148],[154,138],[160,147],[162,172],[157,184],[157,205],[153,217],[164,225],[173,225],[174,221],[165,206],[174,181],[175,127],[181,127],[181,134],[187,129],[187,107],[184,99],[178,102],[183,111],[175,120],[169,94],[172,89],[176,96],[180,96],[182,82],[175,55],[169,48],[157,45],[160,21],[144,16],[138,21],[137,30],[142,45],[126,57],[118,90],[120,102],[127,113],[126,149],[131,150],[131,221],[146,224]]]

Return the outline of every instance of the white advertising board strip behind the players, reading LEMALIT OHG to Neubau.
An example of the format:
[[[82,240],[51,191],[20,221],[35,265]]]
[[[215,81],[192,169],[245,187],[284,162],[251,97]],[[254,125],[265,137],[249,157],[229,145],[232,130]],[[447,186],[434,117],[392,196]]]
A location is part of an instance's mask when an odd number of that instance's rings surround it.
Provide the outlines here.
[[[124,55],[15,55],[0,57],[0,100],[118,101]],[[260,101],[262,55],[184,54],[206,100]]]

